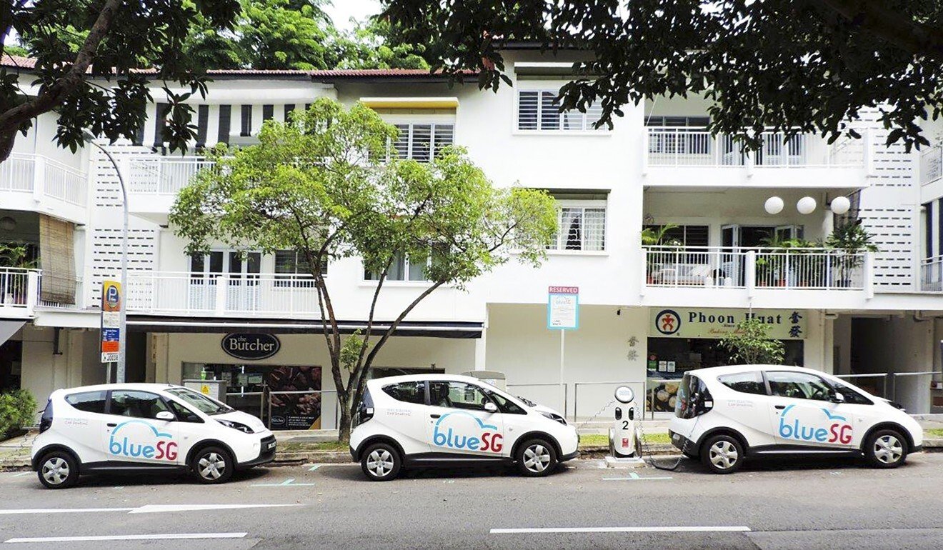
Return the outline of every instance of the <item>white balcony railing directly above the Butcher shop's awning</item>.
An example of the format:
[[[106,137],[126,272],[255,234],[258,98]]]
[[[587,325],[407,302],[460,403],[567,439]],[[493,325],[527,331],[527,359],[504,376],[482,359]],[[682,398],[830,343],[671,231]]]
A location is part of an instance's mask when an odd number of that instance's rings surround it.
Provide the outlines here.
[[[137,313],[320,318],[311,275],[168,273],[128,275]]]

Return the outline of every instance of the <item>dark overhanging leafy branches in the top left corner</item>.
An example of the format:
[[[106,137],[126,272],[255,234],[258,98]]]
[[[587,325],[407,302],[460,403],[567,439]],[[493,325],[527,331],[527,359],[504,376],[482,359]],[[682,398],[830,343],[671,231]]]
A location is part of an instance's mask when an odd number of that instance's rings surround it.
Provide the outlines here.
[[[35,58],[35,88],[24,88],[17,69],[0,67],[0,161],[18,133],[51,111],[59,145],[73,151],[86,129],[112,142],[133,139],[152,81],[165,83],[170,104],[165,139],[172,150],[185,148],[196,128],[184,101],[207,91],[204,68],[184,55],[190,27],[202,18],[222,31],[239,9],[239,0],[8,0],[0,6],[3,36],[18,36]],[[0,54],[5,48],[0,43]],[[174,83],[189,92],[173,92]]]

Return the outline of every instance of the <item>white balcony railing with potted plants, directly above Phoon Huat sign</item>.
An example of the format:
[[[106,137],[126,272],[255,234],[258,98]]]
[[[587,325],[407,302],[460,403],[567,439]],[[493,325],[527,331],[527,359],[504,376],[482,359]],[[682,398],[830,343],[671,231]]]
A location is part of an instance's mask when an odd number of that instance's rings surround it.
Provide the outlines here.
[[[829,248],[647,246],[646,285],[860,291],[867,257]]]

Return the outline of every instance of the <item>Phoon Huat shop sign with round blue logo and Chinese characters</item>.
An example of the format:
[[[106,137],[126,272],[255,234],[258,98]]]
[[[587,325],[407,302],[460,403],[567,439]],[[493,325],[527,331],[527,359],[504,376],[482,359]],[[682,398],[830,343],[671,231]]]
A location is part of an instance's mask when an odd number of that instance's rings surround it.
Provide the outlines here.
[[[770,326],[776,340],[804,340],[805,309],[652,308],[649,336],[656,338],[723,338],[751,317]]]

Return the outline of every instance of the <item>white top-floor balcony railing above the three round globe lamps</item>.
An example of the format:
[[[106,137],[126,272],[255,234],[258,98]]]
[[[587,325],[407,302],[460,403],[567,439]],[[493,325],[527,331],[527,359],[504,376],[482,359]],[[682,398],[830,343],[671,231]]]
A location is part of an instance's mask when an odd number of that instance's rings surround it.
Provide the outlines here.
[[[849,137],[830,144],[815,134],[786,139],[783,132],[764,132],[759,150],[743,151],[733,136],[712,136],[706,128],[649,126],[646,130],[650,166],[865,167],[864,144]]]

